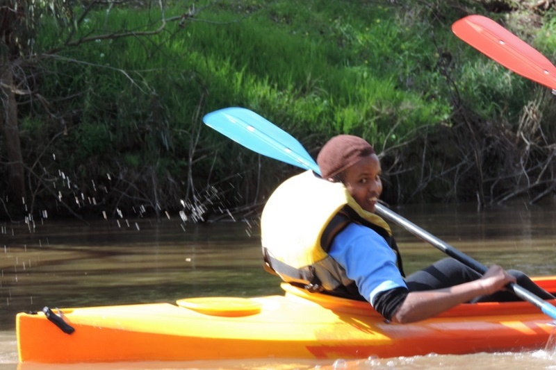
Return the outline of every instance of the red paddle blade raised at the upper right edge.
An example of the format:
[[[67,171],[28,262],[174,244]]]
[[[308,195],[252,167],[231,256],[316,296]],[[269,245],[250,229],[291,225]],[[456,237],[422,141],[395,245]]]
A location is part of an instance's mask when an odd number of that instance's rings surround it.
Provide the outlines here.
[[[492,19],[468,15],[452,24],[452,32],[516,74],[556,89],[556,67],[550,60]]]

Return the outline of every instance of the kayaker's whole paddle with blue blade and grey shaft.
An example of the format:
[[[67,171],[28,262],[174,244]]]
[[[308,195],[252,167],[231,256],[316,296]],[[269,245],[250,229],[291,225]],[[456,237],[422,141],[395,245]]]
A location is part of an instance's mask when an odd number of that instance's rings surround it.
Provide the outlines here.
[[[320,174],[320,169],[315,160],[311,158],[311,155],[306,152],[300,142],[255,112],[245,108],[224,108],[208,113],[203,117],[203,121],[207,126],[214,128],[247,149],[303,169],[311,169]],[[397,215],[392,210],[389,210],[389,208],[377,204],[375,212],[377,215],[402,226],[413,235],[416,235],[416,237],[420,237],[420,239],[432,244],[432,246],[435,246],[459,262],[466,264],[466,266],[471,267],[471,269],[478,273],[484,274],[486,272],[484,265],[457,251],[457,249],[442,242],[437,237],[404,219],[404,217]],[[508,289],[556,320],[555,306],[550,305],[550,303],[543,301],[543,299],[516,284],[508,285]]]

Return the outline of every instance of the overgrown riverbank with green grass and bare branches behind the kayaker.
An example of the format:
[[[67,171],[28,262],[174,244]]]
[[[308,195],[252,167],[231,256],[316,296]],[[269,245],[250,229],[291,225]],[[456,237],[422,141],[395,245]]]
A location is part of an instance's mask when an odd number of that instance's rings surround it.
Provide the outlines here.
[[[486,15],[555,60],[554,1],[47,3],[0,6],[1,219],[256,217],[299,169],[202,124],[228,106],[314,157],[365,137],[387,203],[555,196],[556,97],[450,31]]]

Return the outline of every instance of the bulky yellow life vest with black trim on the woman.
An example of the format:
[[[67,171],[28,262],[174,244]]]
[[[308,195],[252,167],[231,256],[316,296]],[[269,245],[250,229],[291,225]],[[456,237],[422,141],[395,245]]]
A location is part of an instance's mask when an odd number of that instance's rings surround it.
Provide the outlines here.
[[[401,259],[390,227],[379,216],[363,210],[342,183],[323,180],[305,171],[284,181],[268,199],[261,216],[261,244],[265,268],[282,280],[310,290],[352,296],[353,280],[327,251],[334,237],[351,222],[377,231]],[[345,292],[345,288],[349,287]]]

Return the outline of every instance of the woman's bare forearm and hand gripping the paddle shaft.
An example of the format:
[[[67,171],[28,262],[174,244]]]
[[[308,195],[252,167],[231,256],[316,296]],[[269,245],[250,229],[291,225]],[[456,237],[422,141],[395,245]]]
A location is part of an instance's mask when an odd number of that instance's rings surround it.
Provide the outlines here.
[[[493,265],[481,278],[445,289],[411,292],[407,294],[400,308],[392,317],[393,322],[411,323],[433,317],[455,305],[471,301],[477,296],[498,292],[509,283],[515,283],[514,276],[502,267]]]

